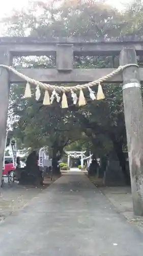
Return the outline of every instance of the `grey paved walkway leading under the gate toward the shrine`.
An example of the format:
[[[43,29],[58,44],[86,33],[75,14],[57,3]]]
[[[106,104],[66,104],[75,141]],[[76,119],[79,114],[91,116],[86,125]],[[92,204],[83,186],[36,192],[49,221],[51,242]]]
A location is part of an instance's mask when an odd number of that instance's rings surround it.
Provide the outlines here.
[[[143,236],[83,173],[56,180],[0,224],[2,256],[142,256]]]

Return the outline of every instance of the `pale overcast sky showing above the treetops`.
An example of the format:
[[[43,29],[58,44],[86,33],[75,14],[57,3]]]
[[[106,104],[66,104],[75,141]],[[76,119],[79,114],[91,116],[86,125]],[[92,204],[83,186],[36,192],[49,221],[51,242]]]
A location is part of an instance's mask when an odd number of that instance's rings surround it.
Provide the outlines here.
[[[124,4],[130,3],[132,0],[107,0],[107,2],[118,9],[122,9]],[[0,0],[0,4],[0,18],[2,18],[5,14],[10,14],[12,9],[16,8],[20,10],[23,6],[26,6],[28,4],[28,0]]]

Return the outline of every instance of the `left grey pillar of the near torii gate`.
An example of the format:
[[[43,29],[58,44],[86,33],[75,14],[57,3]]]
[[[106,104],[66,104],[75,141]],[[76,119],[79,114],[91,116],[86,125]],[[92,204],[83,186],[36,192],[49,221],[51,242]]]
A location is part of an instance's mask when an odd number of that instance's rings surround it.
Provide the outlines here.
[[[0,48],[0,63],[4,65],[10,64],[10,55],[3,47]],[[0,68],[0,181],[3,170],[3,158],[5,152],[5,141],[7,131],[7,117],[9,106],[9,73],[6,69]]]

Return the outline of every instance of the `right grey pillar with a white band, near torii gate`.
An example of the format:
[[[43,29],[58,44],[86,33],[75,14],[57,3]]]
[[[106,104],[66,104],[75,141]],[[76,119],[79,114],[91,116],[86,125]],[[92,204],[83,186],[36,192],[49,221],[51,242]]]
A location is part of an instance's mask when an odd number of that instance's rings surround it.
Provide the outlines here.
[[[120,65],[137,63],[134,49],[123,49]],[[123,71],[123,101],[134,214],[143,216],[143,109],[138,67]]]

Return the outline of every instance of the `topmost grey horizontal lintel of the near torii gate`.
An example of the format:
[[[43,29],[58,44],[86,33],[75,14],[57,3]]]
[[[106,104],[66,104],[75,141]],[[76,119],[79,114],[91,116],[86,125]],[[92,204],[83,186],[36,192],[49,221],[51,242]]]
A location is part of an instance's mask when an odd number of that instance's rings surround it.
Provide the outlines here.
[[[120,36],[97,40],[89,37],[0,37],[0,48],[6,47],[15,55],[42,55],[54,53],[58,45],[72,45],[73,52],[80,55],[119,54],[123,48],[133,48],[138,53],[143,51],[142,36]]]

